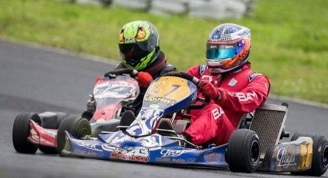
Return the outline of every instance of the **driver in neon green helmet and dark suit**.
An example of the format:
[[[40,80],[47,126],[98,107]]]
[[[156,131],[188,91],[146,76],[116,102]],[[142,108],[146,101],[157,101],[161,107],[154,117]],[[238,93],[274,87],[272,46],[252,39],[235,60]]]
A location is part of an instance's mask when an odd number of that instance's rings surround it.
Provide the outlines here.
[[[142,104],[148,83],[167,72],[175,71],[176,68],[167,63],[165,54],[160,51],[158,31],[149,21],[137,20],[124,25],[119,32],[118,47],[122,62],[115,66],[115,70],[131,68],[139,72],[136,79],[140,86],[140,95],[130,108],[136,112]],[[96,81],[99,79],[101,77]],[[94,113],[93,97],[87,102],[87,110]],[[132,112],[129,114],[134,115]]]

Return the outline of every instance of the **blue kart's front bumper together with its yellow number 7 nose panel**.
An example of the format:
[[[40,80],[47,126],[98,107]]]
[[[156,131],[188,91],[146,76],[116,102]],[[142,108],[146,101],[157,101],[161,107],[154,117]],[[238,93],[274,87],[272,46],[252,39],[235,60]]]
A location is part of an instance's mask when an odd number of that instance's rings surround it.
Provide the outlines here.
[[[196,95],[197,88],[189,80],[157,78],[145,94],[139,115],[126,131],[99,134],[94,140],[78,140],[66,132],[66,145],[61,153],[104,160],[228,168],[224,159],[228,144],[209,149],[186,148],[177,140],[157,133],[151,135],[162,116],[186,108],[196,100]]]

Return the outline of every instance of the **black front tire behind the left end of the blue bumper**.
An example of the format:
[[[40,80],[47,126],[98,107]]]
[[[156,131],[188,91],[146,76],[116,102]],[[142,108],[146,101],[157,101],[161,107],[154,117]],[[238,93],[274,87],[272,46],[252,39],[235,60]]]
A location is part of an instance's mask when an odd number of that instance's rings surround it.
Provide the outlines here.
[[[91,125],[89,121],[80,116],[69,116],[65,118],[59,125],[57,132],[57,151],[60,154],[65,147],[65,130],[71,133],[76,139],[91,134]]]

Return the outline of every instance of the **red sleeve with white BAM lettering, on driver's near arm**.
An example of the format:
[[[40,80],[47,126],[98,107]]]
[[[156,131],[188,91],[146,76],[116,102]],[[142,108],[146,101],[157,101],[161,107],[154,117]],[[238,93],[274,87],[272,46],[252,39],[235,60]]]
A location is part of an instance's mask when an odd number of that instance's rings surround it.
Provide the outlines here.
[[[219,88],[223,95],[216,103],[223,109],[250,113],[265,102],[270,91],[270,81],[267,76],[255,77],[247,87],[240,92],[233,92],[225,88]]]

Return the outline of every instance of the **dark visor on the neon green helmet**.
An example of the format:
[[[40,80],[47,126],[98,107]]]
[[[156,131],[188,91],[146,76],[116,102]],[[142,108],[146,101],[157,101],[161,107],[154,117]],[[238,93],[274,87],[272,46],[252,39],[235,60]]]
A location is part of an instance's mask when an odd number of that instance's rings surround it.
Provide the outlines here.
[[[138,61],[149,53],[147,51],[147,43],[145,42],[118,44],[118,47],[121,58],[128,63],[131,60]]]

